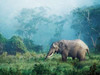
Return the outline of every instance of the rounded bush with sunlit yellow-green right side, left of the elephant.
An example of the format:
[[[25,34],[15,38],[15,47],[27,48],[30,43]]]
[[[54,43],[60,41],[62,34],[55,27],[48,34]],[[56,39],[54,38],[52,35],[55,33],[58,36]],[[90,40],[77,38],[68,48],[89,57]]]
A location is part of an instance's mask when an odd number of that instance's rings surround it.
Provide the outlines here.
[[[19,36],[13,36],[6,43],[6,51],[8,54],[16,54],[16,52],[25,53],[27,48]]]

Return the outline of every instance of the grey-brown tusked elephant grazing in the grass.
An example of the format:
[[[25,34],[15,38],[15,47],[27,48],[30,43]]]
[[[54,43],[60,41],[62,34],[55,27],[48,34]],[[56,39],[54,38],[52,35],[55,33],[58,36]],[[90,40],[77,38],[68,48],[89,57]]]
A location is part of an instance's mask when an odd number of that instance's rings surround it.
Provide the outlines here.
[[[52,56],[54,53],[62,55],[62,61],[67,61],[67,57],[79,59],[79,61],[85,60],[85,55],[88,53],[88,46],[80,39],[75,40],[60,40],[52,43],[50,50],[45,59]]]

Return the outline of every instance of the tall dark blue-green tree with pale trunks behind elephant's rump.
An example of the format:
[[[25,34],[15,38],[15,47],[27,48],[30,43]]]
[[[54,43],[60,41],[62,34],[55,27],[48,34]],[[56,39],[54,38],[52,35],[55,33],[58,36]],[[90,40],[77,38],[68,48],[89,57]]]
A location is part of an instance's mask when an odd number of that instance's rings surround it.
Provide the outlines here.
[[[100,5],[79,8],[73,11],[72,28],[79,37],[96,49],[97,39],[100,36]]]

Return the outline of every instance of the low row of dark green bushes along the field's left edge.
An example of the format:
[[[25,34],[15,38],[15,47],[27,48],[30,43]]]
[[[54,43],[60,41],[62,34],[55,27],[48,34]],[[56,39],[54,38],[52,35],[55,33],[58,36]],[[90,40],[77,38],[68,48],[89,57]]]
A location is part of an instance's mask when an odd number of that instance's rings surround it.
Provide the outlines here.
[[[7,52],[8,54],[16,54],[16,52],[25,53],[27,51],[41,52],[43,47],[36,45],[32,40],[22,39],[19,36],[13,36],[6,39],[0,34],[0,54]]]

